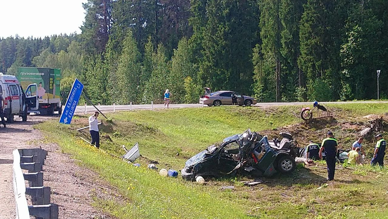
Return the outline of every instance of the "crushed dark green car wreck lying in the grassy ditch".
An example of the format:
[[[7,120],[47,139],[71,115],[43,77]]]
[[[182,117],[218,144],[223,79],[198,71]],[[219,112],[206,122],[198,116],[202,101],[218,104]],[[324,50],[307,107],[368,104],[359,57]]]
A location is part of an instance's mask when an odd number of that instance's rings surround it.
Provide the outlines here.
[[[227,137],[219,145],[212,145],[187,160],[181,170],[182,177],[194,181],[197,176],[222,176],[225,174],[246,174],[272,176],[276,172],[290,173],[296,163],[290,153],[295,144],[291,134],[279,142],[268,142],[249,129],[242,134]]]

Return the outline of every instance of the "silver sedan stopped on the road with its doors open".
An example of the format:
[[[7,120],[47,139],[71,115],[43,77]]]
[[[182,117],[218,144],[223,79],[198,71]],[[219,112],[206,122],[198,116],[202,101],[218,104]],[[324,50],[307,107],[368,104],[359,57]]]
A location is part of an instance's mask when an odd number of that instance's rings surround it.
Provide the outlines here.
[[[206,92],[208,91],[208,92]],[[257,101],[253,97],[243,96],[234,91],[221,90],[210,93],[210,90],[206,90],[205,94],[199,98],[200,104],[206,104],[208,106],[221,106],[221,105],[245,105],[251,106],[256,104]]]

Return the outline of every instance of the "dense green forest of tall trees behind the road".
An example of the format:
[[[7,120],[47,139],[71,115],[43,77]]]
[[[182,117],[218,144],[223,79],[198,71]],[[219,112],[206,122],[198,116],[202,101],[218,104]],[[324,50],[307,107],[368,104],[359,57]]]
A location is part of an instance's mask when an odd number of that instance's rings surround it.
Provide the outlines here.
[[[81,7],[81,6],[80,6]],[[386,0],[88,0],[80,34],[0,38],[0,72],[61,68],[95,103],[388,98]]]

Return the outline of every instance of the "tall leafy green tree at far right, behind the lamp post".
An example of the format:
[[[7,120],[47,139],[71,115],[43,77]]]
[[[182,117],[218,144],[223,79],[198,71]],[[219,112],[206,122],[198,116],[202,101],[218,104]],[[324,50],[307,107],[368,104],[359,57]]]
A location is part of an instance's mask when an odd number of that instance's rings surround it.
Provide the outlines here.
[[[341,99],[365,99],[377,90],[370,74],[384,65],[383,22],[369,5],[354,3],[346,21],[346,39],[341,46]],[[349,88],[349,89],[346,89]],[[377,92],[376,92],[377,93]]]

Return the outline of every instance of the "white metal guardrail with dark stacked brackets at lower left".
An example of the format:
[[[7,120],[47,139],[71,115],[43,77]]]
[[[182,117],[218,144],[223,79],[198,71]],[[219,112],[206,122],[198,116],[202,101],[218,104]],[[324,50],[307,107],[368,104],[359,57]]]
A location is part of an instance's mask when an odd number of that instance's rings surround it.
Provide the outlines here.
[[[14,163],[12,178],[16,203],[16,219],[58,219],[58,205],[50,202],[50,187],[43,186],[42,166],[47,151],[40,148],[16,149],[12,152]],[[28,170],[23,173],[22,169]],[[25,180],[29,187],[26,187]],[[26,195],[33,205],[27,204]]]

